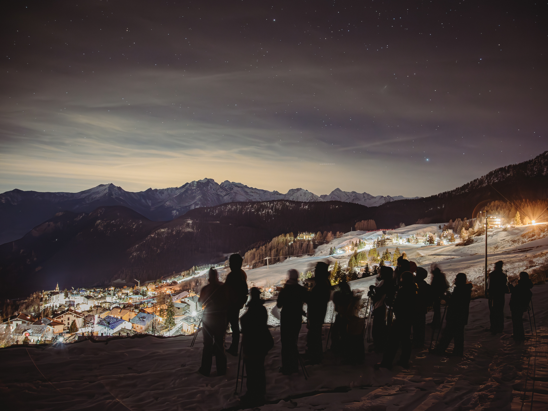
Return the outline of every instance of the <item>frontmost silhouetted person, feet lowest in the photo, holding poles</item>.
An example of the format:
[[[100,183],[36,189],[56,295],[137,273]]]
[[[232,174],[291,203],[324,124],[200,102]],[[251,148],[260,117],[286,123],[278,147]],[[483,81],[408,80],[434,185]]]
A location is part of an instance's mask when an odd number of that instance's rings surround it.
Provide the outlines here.
[[[246,395],[240,398],[244,408],[260,407],[265,404],[266,375],[265,357],[274,346],[274,340],[266,325],[268,317],[262,305],[261,292],[253,287],[247,312],[242,316],[242,351],[246,364]]]

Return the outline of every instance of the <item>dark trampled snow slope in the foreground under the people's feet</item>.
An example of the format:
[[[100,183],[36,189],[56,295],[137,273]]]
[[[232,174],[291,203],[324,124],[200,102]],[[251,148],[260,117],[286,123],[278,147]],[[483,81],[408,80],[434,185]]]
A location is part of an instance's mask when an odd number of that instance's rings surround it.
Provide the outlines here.
[[[548,285],[535,286],[533,294],[541,337],[515,344],[509,319],[502,335],[484,332],[489,325],[487,302],[473,300],[465,357],[437,357],[426,349],[414,350],[409,370],[398,366],[375,370],[373,366],[381,357],[374,353],[366,354],[361,366],[345,366],[328,352],[323,364],[307,367],[309,380],[301,373],[284,376],[278,372],[280,341],[279,331],[274,329],[275,346],[266,357],[267,399],[271,403],[260,409],[544,411],[548,408]],[[505,315],[510,315],[507,304]],[[528,318],[527,313],[525,316]],[[528,320],[526,330],[529,332]],[[324,340],[326,334],[327,326]],[[225,376],[216,376],[213,366],[212,376],[206,378],[197,373],[202,336],[198,334],[194,347],[190,347],[191,340],[192,336],[146,336],[41,349],[2,349],[1,401],[6,409],[52,411],[216,411],[235,406],[238,358],[229,356]],[[301,352],[305,340],[303,326]]]

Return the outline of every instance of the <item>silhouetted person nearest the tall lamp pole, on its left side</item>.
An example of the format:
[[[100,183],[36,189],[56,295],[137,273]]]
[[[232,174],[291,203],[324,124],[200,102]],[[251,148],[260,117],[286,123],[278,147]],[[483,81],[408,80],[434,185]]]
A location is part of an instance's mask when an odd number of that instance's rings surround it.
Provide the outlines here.
[[[446,328],[443,330],[438,346],[431,352],[443,355],[451,340],[454,340],[452,354],[454,356],[464,354],[464,327],[468,324],[471,294],[472,283],[467,283],[466,274],[459,272],[455,277],[455,288],[447,303]]]

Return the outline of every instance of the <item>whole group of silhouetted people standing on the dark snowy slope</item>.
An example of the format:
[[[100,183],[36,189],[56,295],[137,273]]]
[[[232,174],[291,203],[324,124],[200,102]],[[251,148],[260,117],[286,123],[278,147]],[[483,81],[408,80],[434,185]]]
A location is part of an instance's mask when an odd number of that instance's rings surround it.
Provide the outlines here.
[[[217,375],[226,374],[226,354],[238,356],[241,322],[243,361],[246,367],[246,395],[240,398],[247,406],[265,403],[266,376],[265,357],[272,349],[274,341],[267,326],[268,313],[260,298],[260,290],[253,287],[248,290],[247,275],[242,270],[243,259],[232,254],[229,259],[230,273],[224,283],[218,279],[213,268],[209,270],[209,283],[203,287],[198,302],[203,306],[202,364],[198,372],[209,376],[212,358],[215,356]],[[446,276],[436,264],[430,267],[431,282],[425,281],[428,273],[414,262],[400,257],[395,269],[381,266],[378,282],[369,287],[368,299],[362,299],[361,293],[350,289],[347,282],[335,286],[330,283],[328,264],[319,261],[316,264],[313,286],[307,290],[299,283],[299,272],[288,271],[288,278],[280,290],[272,314],[279,318],[281,337],[281,367],[284,375],[296,373],[299,362],[302,365],[319,364],[323,358],[322,330],[326,323],[329,301],[334,304],[335,315],[329,330],[330,351],[341,358],[343,364],[361,364],[365,358],[364,326],[360,312],[371,311],[371,334],[373,344],[369,352],[382,353],[383,359],[375,368],[391,368],[398,349],[401,356],[397,364],[409,367],[413,348],[424,348],[426,340],[426,313],[433,308],[432,329],[441,329],[443,319],[446,327],[439,343],[430,347],[430,352],[447,355],[446,350],[453,341],[450,355],[464,355],[464,328],[468,322],[472,284],[467,282],[465,273],[455,277],[454,288],[449,292]],[[516,286],[513,286],[503,271],[503,261],[495,263],[490,272],[486,295],[490,310],[490,328],[494,335],[504,328],[505,294],[511,293],[513,338],[525,339],[523,312],[527,311],[533,283],[527,272],[521,272]],[[247,303],[247,311],[241,318],[239,312]],[[446,308],[442,315],[442,302]],[[364,305],[365,302],[365,305]],[[306,304],[306,312],[303,310]],[[306,352],[301,355],[297,343],[303,316],[307,322]],[[232,343],[225,351],[227,327],[232,330]],[[432,333],[433,335],[433,333]],[[432,339],[432,337],[431,337]],[[327,343],[326,343],[327,344]],[[327,349],[327,347],[326,347]],[[300,356],[304,357],[301,359]]]

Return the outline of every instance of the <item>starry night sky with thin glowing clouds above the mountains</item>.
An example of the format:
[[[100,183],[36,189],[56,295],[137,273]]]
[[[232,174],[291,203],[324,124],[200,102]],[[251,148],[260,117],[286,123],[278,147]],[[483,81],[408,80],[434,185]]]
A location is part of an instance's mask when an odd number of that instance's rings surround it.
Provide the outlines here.
[[[0,192],[427,196],[548,150],[546,5],[9,2]]]

